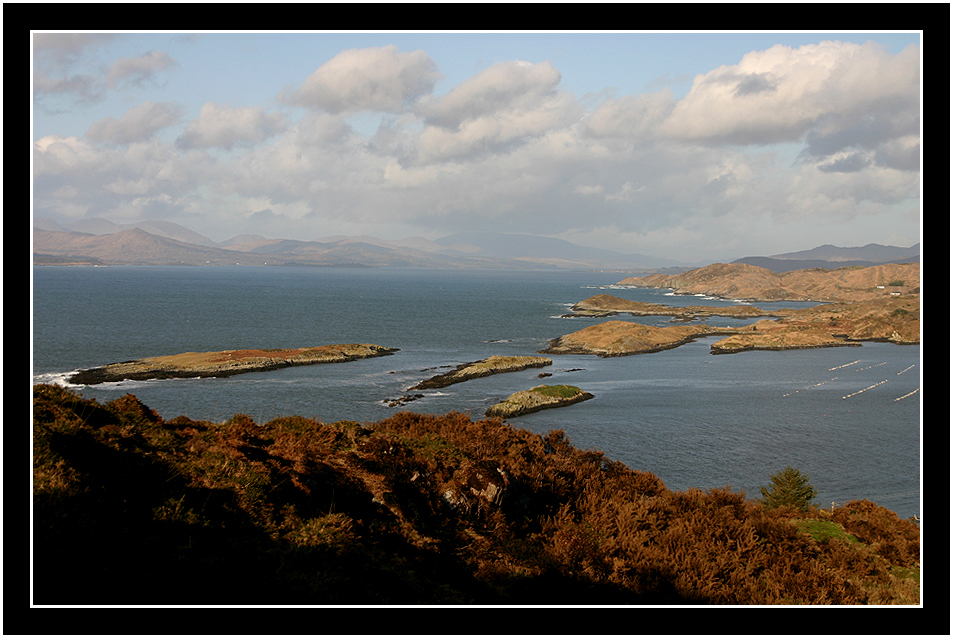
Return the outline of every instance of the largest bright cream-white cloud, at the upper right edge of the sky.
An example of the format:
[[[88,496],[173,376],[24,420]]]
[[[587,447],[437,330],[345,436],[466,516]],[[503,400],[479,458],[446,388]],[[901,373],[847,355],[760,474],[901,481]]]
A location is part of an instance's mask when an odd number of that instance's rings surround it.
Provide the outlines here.
[[[676,139],[748,145],[795,142],[829,125],[830,137],[844,122],[918,110],[919,80],[918,47],[891,56],[873,42],[777,45],[697,76],[663,130]]]

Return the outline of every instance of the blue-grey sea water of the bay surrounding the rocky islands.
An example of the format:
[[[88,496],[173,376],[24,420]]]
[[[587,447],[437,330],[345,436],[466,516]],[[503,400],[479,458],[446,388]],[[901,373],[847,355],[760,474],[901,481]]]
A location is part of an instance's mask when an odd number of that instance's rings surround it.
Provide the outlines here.
[[[901,517],[921,509],[920,346],[864,343],[711,355],[717,338],[674,350],[603,359],[552,355],[553,365],[476,379],[388,407],[389,399],[450,367],[532,355],[550,339],[625,319],[564,318],[591,295],[670,305],[733,305],[664,290],[621,288],[615,272],[282,267],[34,267],[33,383],[75,370],[179,352],[375,343],[392,356],[225,379],[76,386],[109,401],[126,393],[169,419],[265,422],[300,414],[375,421],[399,410],[481,418],[490,405],[539,383],[595,395],[511,420],[540,434],[561,429],[671,489],[731,487],[760,495],[791,465],[824,507],[867,498]],[[755,304],[762,308],[810,304]],[[747,322],[713,318],[712,325]],[[544,380],[541,372],[551,373]],[[416,391],[414,393],[417,393]],[[913,394],[911,394],[913,393]]]

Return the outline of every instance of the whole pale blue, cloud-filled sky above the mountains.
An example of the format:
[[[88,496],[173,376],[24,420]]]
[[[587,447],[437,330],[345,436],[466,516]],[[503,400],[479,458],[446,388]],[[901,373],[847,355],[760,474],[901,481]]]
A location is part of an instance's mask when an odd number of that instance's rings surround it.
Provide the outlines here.
[[[920,241],[919,32],[32,37],[33,215],[64,226],[689,263]]]

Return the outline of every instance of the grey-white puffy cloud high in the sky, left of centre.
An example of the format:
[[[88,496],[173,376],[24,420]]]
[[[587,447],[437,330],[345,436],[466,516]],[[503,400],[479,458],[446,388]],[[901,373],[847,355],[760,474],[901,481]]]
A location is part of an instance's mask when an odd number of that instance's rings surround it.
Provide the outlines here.
[[[285,99],[328,113],[400,113],[441,77],[423,51],[402,52],[394,45],[349,49],[318,67]]]

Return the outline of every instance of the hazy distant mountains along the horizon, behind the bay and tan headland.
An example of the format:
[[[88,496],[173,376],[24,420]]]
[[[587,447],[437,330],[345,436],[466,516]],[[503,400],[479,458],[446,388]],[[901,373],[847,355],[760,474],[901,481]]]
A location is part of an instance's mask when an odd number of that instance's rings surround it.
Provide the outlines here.
[[[868,244],[862,248],[819,246],[748,263],[786,272],[803,268],[869,266],[919,261],[920,245],[910,248]],[[632,273],[681,272],[703,264],[683,264],[640,254],[580,246],[552,237],[466,232],[431,241],[408,237],[387,241],[368,236],[333,236],[313,241],[238,235],[215,242],[166,221],[115,224],[86,219],[62,226],[38,218],[33,224],[35,264],[133,265],[299,265],[412,268],[614,269]]]

